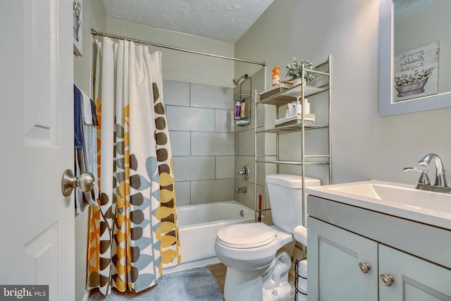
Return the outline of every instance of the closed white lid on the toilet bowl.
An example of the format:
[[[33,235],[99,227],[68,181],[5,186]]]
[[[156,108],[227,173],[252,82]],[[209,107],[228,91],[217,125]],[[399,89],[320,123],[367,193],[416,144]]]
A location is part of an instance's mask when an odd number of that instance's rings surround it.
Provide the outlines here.
[[[264,223],[237,223],[221,228],[216,239],[226,247],[247,249],[268,245],[276,238],[276,233]]]

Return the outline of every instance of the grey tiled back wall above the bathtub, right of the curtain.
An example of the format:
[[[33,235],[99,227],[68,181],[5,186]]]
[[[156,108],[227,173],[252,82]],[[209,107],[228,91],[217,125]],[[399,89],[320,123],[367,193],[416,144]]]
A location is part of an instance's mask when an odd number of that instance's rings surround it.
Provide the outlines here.
[[[163,80],[178,206],[235,198],[233,88]]]

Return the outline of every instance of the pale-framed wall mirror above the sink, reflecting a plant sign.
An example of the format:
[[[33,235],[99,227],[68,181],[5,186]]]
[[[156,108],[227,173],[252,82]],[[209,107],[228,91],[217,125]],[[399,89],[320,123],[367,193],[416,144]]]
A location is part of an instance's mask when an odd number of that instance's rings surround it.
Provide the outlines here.
[[[379,3],[379,115],[451,107],[451,1]]]

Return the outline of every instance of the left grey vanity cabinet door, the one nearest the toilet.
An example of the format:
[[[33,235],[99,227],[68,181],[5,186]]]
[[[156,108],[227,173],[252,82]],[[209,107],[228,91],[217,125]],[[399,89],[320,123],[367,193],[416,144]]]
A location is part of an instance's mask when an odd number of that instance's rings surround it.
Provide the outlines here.
[[[378,243],[307,219],[307,300],[377,301]],[[362,272],[359,264],[368,264],[369,271]]]

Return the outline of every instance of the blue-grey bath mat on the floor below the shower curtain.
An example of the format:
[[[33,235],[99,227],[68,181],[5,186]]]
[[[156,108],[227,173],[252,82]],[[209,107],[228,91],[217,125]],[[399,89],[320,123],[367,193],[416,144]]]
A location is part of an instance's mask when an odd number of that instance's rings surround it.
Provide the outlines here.
[[[187,269],[171,274],[163,274],[159,282],[148,290],[140,293],[127,291],[119,293],[111,290],[108,296],[101,295],[95,290],[89,300],[99,301],[222,301],[224,300],[221,288],[211,271],[206,268]]]

